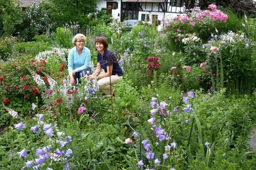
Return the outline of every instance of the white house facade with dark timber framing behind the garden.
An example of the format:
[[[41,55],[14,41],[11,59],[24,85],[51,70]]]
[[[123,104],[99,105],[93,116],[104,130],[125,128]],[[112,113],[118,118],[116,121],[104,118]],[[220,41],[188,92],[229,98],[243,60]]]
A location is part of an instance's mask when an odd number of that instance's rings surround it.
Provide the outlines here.
[[[182,14],[185,4],[184,0],[98,0],[97,8],[107,8],[113,18],[119,21],[141,20],[154,23]]]

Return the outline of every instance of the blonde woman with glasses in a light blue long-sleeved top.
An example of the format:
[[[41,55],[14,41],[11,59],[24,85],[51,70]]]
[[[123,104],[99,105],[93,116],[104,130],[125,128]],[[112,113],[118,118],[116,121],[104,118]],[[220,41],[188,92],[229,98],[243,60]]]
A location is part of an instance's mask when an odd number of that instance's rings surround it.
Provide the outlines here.
[[[90,61],[91,52],[85,47],[86,37],[83,34],[76,34],[72,40],[74,47],[68,53],[68,74],[70,83],[80,83],[80,78],[83,75],[89,75],[91,72]]]

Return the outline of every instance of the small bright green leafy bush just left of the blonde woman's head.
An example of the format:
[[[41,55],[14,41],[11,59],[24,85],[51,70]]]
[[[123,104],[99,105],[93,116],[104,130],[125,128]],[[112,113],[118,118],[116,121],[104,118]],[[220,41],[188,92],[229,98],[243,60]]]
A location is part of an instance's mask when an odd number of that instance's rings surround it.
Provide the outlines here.
[[[70,33],[70,29],[68,28],[62,28],[62,27],[58,27],[56,29],[56,37],[55,37],[58,45],[60,45],[60,47],[63,48],[71,48],[73,47],[73,44],[71,42],[71,33]]]

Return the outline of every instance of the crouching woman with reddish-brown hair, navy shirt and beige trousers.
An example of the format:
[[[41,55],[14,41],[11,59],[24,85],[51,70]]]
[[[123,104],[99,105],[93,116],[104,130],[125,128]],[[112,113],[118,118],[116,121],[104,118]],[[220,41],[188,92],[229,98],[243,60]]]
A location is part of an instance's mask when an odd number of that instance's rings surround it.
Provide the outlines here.
[[[97,68],[93,74],[91,74],[88,79],[94,80],[98,79],[98,85],[100,86],[100,91],[105,95],[113,94],[113,87],[111,86],[110,92],[110,78],[111,85],[118,83],[123,78],[123,72],[118,63],[115,63],[110,59],[109,63],[109,54],[108,43],[105,38],[97,37],[95,39],[95,51],[98,51],[97,55]],[[104,70],[105,73],[101,73],[101,69]],[[98,76],[97,76],[98,75]],[[111,76],[110,76],[111,75]],[[110,76],[110,77],[109,77]]]

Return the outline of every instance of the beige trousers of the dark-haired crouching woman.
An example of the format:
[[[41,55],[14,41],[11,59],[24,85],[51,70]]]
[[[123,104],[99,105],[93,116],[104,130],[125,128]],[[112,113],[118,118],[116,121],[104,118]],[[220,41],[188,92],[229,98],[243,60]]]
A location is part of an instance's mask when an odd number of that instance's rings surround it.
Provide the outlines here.
[[[110,76],[110,78],[111,78],[111,90],[112,90],[112,94],[114,94],[112,85],[118,83],[123,78],[123,76],[118,76],[116,74],[116,75]],[[97,83],[100,86],[100,91],[102,93],[111,96],[112,94],[110,93],[110,78],[109,77],[101,78],[100,80],[98,80]]]

